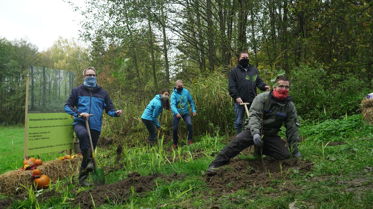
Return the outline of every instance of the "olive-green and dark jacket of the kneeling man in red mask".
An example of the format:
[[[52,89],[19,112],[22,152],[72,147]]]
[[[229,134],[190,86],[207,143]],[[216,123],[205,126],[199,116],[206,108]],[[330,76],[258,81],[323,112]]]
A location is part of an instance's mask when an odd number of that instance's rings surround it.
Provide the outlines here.
[[[255,97],[249,111],[249,123],[245,128],[250,129],[252,135],[274,136],[281,131],[280,128],[285,122],[286,140],[290,147],[295,148],[299,139],[299,120],[297,110],[291,101],[292,97],[288,96],[282,101],[277,101],[272,91],[266,91]],[[262,118],[263,123],[261,123]]]

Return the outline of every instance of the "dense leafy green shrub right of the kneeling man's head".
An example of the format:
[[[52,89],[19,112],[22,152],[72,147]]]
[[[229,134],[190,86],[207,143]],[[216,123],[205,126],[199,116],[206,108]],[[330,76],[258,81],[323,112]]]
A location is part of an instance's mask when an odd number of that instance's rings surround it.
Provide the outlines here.
[[[326,120],[355,113],[369,92],[367,81],[356,75],[331,74],[321,65],[294,68],[289,76],[298,115],[305,120]],[[348,77],[349,79],[346,79]]]

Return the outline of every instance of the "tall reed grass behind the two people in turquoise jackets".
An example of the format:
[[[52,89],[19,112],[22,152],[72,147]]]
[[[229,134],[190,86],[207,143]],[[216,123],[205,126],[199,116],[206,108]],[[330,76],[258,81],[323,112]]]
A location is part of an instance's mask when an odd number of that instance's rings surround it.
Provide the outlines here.
[[[192,116],[193,135],[232,134],[234,122],[233,100],[228,94],[228,71],[216,71],[210,75],[199,75],[192,83],[184,81],[184,87],[188,89],[194,99],[197,109],[197,116]],[[169,87],[172,90],[174,83]],[[171,91],[172,93],[172,91]],[[146,105],[154,98],[154,95],[146,95]],[[137,145],[145,141],[148,131],[141,121],[144,112],[144,105],[136,102],[121,102],[113,99],[113,103],[120,103],[123,110],[123,118],[112,118],[104,114],[103,135],[111,138],[119,138],[119,131],[122,126],[123,142],[129,145]],[[190,107],[189,107],[189,110]],[[160,137],[164,136],[164,143],[172,141],[172,112],[163,110],[162,129]],[[188,135],[185,122],[179,123],[179,142],[186,139]]]

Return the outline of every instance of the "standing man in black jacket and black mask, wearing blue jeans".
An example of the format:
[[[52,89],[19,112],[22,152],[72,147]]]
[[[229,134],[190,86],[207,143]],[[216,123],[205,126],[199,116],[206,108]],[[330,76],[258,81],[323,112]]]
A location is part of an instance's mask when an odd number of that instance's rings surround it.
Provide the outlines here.
[[[247,75],[250,79],[246,79]],[[255,76],[256,75],[256,79]],[[254,78],[253,78],[254,76]],[[253,81],[254,80],[254,81]],[[229,95],[235,100],[235,115],[234,128],[236,135],[242,131],[242,120],[245,116],[245,107],[241,103],[251,103],[257,95],[256,87],[260,90],[269,91],[270,87],[261,80],[256,67],[249,64],[249,54],[246,51],[239,52],[238,65],[232,68],[229,73],[228,90]]]

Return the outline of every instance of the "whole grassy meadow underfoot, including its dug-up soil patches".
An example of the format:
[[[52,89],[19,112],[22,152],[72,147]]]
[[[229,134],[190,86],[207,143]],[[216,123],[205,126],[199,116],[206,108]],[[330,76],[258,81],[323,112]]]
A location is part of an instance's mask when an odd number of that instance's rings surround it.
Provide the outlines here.
[[[125,146],[119,163],[116,146],[98,147],[104,186],[78,187],[77,176],[72,176],[54,180],[48,189],[28,187],[22,196],[3,194],[0,201],[9,208],[372,208],[372,133],[361,115],[303,125],[300,159],[279,163],[263,156],[268,167],[276,164],[280,169],[238,170],[238,163],[263,163],[242,151],[211,178],[204,172],[228,136],[198,136],[194,144],[182,142],[178,149],[170,148],[167,140],[153,148]],[[23,128],[1,127],[1,139],[1,173],[21,167]],[[59,155],[64,153],[43,158]],[[293,164],[285,168],[289,162]]]

